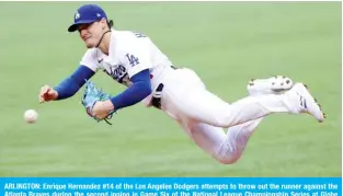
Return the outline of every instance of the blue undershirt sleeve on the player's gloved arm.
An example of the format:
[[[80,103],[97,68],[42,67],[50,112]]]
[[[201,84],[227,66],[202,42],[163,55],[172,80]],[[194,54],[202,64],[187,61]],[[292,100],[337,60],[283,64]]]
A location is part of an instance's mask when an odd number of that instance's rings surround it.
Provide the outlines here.
[[[145,69],[132,77],[133,85],[111,99],[114,109],[134,105],[151,93],[150,70]]]

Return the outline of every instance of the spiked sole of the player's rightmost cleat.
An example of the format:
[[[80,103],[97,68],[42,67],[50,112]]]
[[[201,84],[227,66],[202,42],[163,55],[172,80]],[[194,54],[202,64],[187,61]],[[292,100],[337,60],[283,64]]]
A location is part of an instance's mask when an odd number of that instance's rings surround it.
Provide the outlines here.
[[[297,83],[296,85],[300,85],[301,87],[301,95],[305,96],[306,99],[306,104],[307,104],[307,113],[311,114],[312,116],[315,116],[317,118],[317,120],[319,123],[324,122],[324,119],[327,118],[327,115],[323,113],[321,105],[318,103],[317,99],[315,99],[310,91],[308,85],[306,85],[305,83]],[[309,104],[310,107],[309,107]],[[313,112],[310,112],[308,108],[313,108]],[[320,116],[317,116],[316,114],[320,113]]]

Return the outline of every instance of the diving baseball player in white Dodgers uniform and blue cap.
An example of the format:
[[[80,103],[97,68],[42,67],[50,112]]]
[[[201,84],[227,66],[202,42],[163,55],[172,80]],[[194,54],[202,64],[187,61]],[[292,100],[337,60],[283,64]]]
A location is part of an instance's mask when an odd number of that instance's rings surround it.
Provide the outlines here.
[[[85,84],[82,104],[100,122],[144,102],[176,120],[197,146],[224,164],[240,158],[264,116],[308,113],[318,122],[324,120],[305,84],[286,77],[252,80],[249,96],[232,104],[222,101],[206,90],[193,70],[175,68],[145,34],[113,28],[99,5],[80,7],[68,31],[79,32],[88,50],[70,77],[55,88],[41,89],[41,103],[68,99]],[[100,91],[90,81],[100,70],[127,89],[117,95]]]

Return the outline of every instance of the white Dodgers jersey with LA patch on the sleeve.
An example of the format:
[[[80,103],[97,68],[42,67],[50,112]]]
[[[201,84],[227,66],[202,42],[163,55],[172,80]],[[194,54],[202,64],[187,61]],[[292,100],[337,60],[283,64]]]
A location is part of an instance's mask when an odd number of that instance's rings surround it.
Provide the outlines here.
[[[165,71],[172,66],[168,57],[151,42],[138,32],[112,30],[108,55],[99,48],[88,49],[80,65],[94,72],[103,70],[115,81],[129,87],[130,78],[149,69],[152,91],[159,84]],[[145,99],[148,104],[151,95]]]

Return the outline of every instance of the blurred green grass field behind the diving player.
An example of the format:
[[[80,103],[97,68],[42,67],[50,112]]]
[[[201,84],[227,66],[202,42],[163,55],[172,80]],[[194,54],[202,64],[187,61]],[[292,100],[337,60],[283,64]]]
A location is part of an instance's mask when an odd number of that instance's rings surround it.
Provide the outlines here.
[[[328,119],[267,117],[242,158],[221,165],[167,115],[141,104],[114,126],[89,118],[81,93],[38,104],[84,53],[67,33],[80,2],[0,2],[1,176],[341,176],[341,2],[106,2],[119,30],[148,34],[176,66],[190,67],[228,102],[251,78],[306,82]],[[98,85],[123,88],[102,72]],[[23,113],[35,108],[34,125]]]

